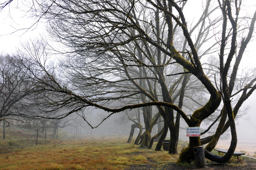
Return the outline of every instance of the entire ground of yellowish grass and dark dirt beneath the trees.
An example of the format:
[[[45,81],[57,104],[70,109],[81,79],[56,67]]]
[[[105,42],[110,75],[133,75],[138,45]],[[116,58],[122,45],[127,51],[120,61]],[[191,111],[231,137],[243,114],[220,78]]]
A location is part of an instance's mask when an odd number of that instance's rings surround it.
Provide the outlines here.
[[[224,164],[206,160],[204,169],[196,169],[193,162],[177,165],[179,154],[127,144],[127,136],[70,139],[65,134],[69,139],[40,138],[36,145],[33,135],[22,131],[7,134],[7,139],[0,139],[0,170],[256,170],[256,159],[247,157],[240,157],[238,163],[236,157]],[[186,145],[180,141],[179,152]]]

